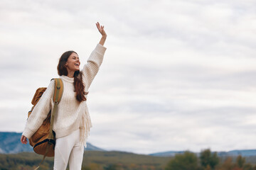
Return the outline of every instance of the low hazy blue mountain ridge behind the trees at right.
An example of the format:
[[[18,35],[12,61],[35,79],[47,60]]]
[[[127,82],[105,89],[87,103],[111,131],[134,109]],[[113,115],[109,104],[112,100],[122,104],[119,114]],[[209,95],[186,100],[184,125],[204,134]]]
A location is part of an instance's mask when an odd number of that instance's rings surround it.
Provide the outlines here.
[[[155,157],[174,157],[175,154],[183,154],[183,153],[184,151],[169,151],[169,152],[157,152],[149,155],[155,156]],[[196,152],[195,154],[199,155],[200,153]],[[239,155],[241,155],[242,157],[252,157],[252,156],[256,156],[256,149],[232,150],[228,152],[217,152],[217,154],[219,157],[238,157]]]

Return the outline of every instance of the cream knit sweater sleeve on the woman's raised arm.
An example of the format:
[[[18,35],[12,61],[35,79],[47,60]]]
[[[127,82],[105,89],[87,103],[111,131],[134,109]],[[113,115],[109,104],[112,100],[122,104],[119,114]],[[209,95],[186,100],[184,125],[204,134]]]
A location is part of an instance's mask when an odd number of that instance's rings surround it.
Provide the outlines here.
[[[103,61],[103,56],[106,47],[97,44],[95,50],[92,51],[90,57],[87,60],[87,64],[82,69],[82,81],[85,84],[85,89],[89,89],[90,84],[92,84],[92,80],[95,78],[97,72],[100,69],[100,65]]]

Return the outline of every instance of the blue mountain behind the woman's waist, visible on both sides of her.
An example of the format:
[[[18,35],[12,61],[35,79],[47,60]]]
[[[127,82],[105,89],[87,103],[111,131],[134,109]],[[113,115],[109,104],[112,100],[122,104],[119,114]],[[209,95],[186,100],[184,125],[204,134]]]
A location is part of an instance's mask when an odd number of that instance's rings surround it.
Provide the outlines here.
[[[0,153],[1,154],[16,154],[19,152],[33,152],[31,145],[21,144],[21,133],[17,132],[0,132]],[[99,147],[95,147],[87,143],[86,150],[105,151]]]

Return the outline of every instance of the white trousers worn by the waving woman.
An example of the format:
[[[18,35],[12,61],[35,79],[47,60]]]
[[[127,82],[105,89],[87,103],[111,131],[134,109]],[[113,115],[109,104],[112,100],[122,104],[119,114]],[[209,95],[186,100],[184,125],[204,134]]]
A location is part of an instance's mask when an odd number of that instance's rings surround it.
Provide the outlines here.
[[[80,143],[80,129],[56,139],[53,169],[65,170],[69,163],[70,170],[81,170],[83,153],[84,145]]]

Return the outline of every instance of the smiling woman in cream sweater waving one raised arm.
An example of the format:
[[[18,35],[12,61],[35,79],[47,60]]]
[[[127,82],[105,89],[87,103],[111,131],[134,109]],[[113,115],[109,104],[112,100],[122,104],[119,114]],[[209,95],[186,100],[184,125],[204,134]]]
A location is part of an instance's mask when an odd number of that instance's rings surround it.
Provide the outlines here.
[[[58,63],[58,74],[63,80],[64,91],[53,123],[56,137],[53,169],[56,170],[66,169],[68,163],[70,170],[82,167],[84,145],[86,147],[87,136],[92,126],[86,105],[87,91],[102,64],[106,50],[103,46],[107,38],[104,26],[100,26],[100,23],[96,23],[96,26],[102,38],[81,71],[76,52],[64,52]],[[26,144],[27,138],[38,130],[53,108],[54,87],[54,81],[50,81],[40,101],[33,108],[21,136],[23,144]]]

